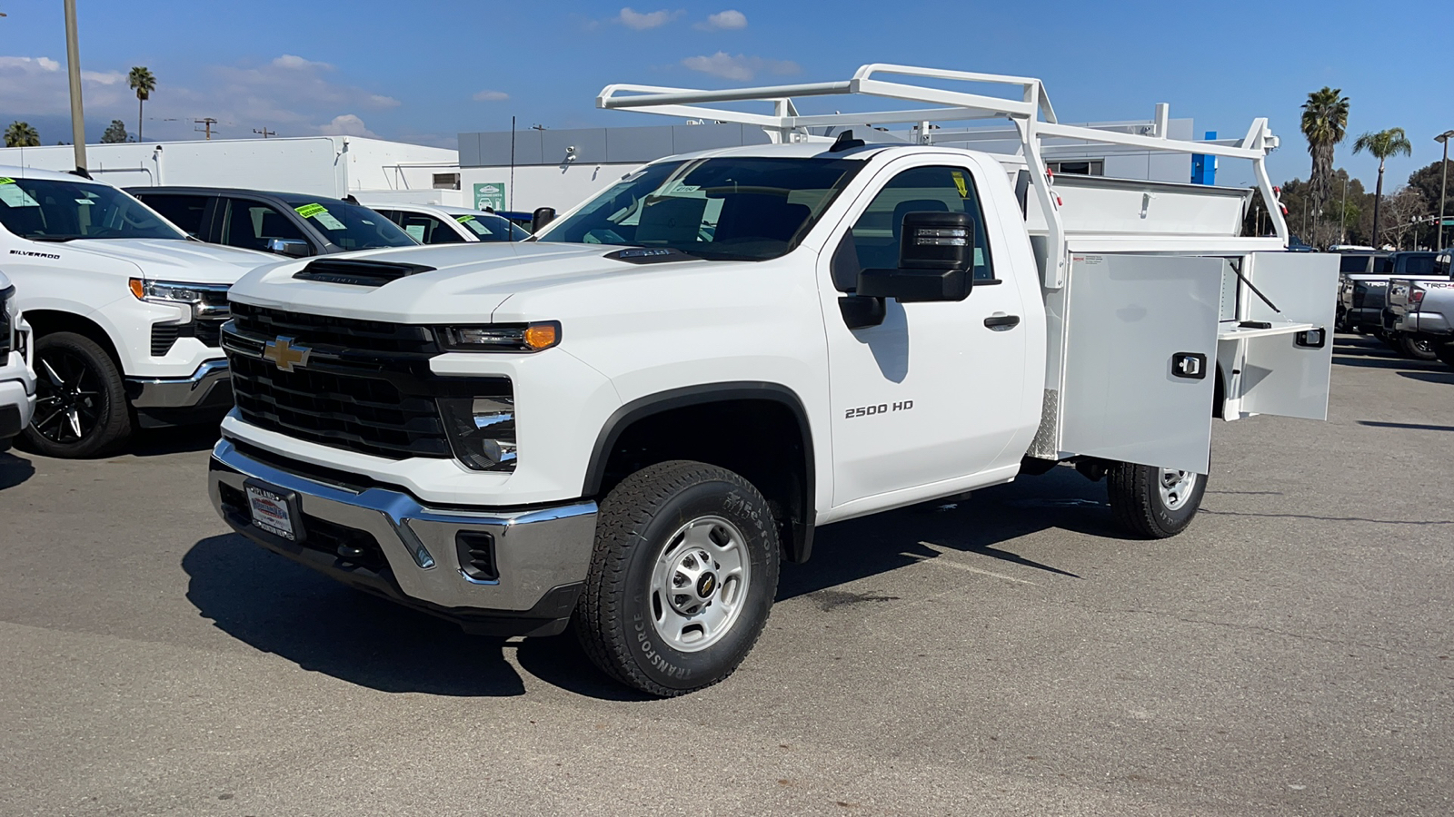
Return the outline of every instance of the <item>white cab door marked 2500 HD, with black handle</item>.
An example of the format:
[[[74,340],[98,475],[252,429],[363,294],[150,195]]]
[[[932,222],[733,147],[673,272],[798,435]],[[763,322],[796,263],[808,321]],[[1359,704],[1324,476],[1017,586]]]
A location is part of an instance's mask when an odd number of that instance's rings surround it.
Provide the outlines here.
[[[986,234],[974,172],[913,157],[884,167],[871,189],[820,260],[835,507],[1015,465],[1024,454],[1006,449],[1025,424],[1028,330],[1019,289],[997,278],[997,233]],[[840,298],[853,292],[859,269],[899,266],[903,217],[920,211],[974,218],[973,292],[960,302],[887,298],[881,323],[851,329]]]

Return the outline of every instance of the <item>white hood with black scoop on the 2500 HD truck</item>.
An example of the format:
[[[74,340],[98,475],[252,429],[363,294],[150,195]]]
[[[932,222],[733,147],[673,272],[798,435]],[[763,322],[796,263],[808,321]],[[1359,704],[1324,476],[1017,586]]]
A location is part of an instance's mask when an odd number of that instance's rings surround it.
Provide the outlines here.
[[[583,285],[603,278],[644,278],[683,270],[717,270],[736,263],[688,259],[630,263],[603,257],[615,244],[470,243],[400,247],[326,256],[330,262],[379,260],[435,267],[382,286],[300,281],[313,259],[260,269],[233,286],[231,298],[259,305],[334,317],[394,323],[484,321],[509,297]]]

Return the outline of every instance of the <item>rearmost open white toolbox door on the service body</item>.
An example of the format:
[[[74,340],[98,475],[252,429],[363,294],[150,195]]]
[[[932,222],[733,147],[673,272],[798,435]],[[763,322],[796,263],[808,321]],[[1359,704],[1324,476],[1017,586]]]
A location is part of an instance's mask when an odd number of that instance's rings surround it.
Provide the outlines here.
[[[1338,254],[1252,253],[1242,275],[1266,299],[1243,285],[1242,321],[1224,324],[1218,334],[1217,356],[1229,375],[1232,398],[1224,411],[1236,408],[1236,414],[1226,416],[1326,420]]]

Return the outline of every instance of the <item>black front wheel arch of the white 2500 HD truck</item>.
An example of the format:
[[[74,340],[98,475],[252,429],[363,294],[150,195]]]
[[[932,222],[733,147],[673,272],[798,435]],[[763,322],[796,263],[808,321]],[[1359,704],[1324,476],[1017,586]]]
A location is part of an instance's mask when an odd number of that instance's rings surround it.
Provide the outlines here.
[[[688,433],[704,422],[724,424],[705,435]],[[743,446],[763,440],[768,456]],[[784,445],[787,451],[778,451]],[[807,561],[816,516],[813,429],[803,400],[791,388],[759,381],[715,382],[648,394],[621,406],[596,436],[582,496],[602,496],[619,481],[622,467],[632,464],[632,451],[624,446],[634,446],[644,461],[701,459],[742,474],[781,509],[784,557]]]

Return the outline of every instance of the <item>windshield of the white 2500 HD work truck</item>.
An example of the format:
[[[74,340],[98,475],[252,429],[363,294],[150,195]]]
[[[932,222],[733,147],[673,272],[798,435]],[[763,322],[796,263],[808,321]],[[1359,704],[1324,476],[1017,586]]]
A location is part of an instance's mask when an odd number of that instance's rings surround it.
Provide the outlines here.
[[[775,259],[803,240],[862,166],[845,158],[663,161],[627,176],[538,240]]]

